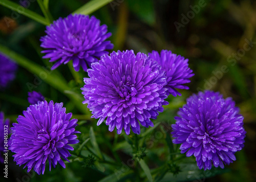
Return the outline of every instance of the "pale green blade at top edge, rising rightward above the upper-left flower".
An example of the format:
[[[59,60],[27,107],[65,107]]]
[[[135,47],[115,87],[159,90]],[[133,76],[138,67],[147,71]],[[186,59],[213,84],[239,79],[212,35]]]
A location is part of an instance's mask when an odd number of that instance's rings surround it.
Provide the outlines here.
[[[92,0],[87,4],[83,5],[81,8],[74,11],[73,14],[76,13],[88,15],[105,6],[106,4],[109,4],[112,1],[114,0]]]

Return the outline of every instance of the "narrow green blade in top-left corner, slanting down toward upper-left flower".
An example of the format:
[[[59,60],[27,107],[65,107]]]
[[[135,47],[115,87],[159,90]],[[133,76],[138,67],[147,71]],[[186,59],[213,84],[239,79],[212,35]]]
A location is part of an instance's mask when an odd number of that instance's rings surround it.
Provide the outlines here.
[[[49,25],[49,22],[46,18],[9,0],[1,0],[0,5],[3,5],[13,11],[16,11],[19,14],[25,15],[41,24]]]

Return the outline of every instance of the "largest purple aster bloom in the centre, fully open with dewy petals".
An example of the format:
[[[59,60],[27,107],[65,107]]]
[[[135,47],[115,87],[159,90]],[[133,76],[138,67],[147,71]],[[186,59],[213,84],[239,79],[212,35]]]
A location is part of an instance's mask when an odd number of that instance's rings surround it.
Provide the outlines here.
[[[153,59],[133,50],[119,51],[101,57],[88,69],[90,78],[84,78],[82,94],[92,111],[92,117],[100,118],[97,125],[106,119],[109,131],[122,128],[130,134],[130,125],[135,134],[142,126],[154,126],[156,119],[167,105],[166,75]],[[140,123],[140,124],[139,124]]]

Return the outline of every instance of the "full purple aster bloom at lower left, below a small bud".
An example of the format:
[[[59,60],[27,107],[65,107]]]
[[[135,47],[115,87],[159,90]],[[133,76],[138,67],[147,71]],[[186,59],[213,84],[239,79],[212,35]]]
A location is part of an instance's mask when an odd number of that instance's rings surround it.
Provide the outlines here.
[[[44,174],[47,160],[50,171],[57,163],[65,168],[62,160],[69,161],[69,150],[74,150],[70,144],[79,142],[74,135],[80,133],[75,131],[77,119],[71,119],[72,113],[66,114],[62,106],[52,100],[49,104],[38,101],[23,112],[24,116],[18,116],[18,123],[13,123],[9,149],[16,153],[13,157],[17,165],[26,164],[28,172],[34,168]]]

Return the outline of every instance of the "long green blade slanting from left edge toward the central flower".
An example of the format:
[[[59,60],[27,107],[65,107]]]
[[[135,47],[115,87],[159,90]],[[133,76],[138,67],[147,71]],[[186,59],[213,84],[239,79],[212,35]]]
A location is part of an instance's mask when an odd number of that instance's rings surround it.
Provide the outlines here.
[[[67,97],[69,97],[72,102],[74,102],[78,110],[84,114],[87,113],[86,106],[82,104],[82,97],[77,94],[70,94],[72,91],[66,80],[63,80],[62,77],[58,76],[58,74],[56,74],[54,71],[47,71],[44,66],[40,66],[33,61],[30,61],[24,56],[15,53],[3,45],[0,45],[0,52],[15,61],[19,66],[22,66],[31,73],[37,75],[38,78],[40,78],[42,81],[48,83],[53,88],[67,95]]]

